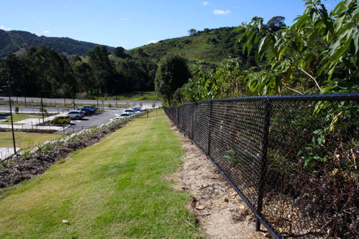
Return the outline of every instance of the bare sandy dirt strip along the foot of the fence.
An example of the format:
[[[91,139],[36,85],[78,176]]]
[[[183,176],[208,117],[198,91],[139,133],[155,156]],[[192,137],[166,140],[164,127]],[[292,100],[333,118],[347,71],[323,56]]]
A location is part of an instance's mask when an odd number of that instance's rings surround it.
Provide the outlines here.
[[[215,166],[179,130],[171,129],[183,138],[185,150],[182,168],[167,176],[176,181],[176,189],[193,195],[188,208],[194,212],[210,239],[265,239],[255,231],[252,211],[227,183]]]

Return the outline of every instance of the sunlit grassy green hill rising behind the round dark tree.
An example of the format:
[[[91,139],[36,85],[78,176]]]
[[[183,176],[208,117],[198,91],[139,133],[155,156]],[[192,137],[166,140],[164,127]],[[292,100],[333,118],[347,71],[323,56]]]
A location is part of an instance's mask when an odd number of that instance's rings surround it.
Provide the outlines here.
[[[233,32],[235,27],[204,29],[190,36],[183,36],[125,51],[133,57],[147,57],[158,62],[165,55],[177,54],[193,62],[218,64],[229,56],[247,61],[247,54],[242,54],[242,44],[235,44],[240,33]]]

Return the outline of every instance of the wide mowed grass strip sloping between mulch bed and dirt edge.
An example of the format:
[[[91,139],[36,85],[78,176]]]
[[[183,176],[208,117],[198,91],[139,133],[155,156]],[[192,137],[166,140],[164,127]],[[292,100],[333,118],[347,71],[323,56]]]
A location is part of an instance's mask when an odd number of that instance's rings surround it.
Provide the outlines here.
[[[164,115],[136,119],[0,193],[0,238],[204,237],[190,196],[164,179],[182,155]]]

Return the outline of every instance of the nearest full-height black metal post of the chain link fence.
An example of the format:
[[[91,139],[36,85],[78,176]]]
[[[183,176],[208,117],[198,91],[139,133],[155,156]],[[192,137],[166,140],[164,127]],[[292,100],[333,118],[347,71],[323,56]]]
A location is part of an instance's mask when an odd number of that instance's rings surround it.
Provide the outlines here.
[[[269,123],[271,115],[271,103],[268,98],[264,101],[265,115],[263,120],[263,149],[262,149],[262,158],[261,158],[261,169],[260,169],[260,178],[259,178],[259,188],[258,188],[258,200],[257,200],[257,212],[259,217],[262,214],[263,208],[263,196],[264,196],[264,184],[265,177],[267,174],[267,149],[268,149],[268,140],[269,140]],[[259,217],[256,218],[256,230],[260,230],[260,220]]]

